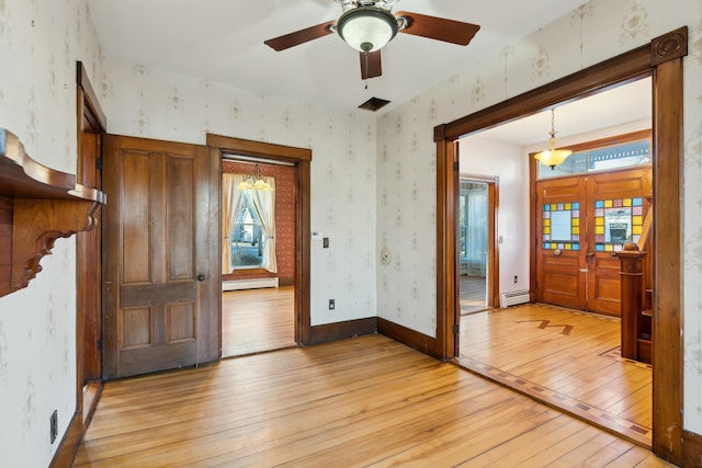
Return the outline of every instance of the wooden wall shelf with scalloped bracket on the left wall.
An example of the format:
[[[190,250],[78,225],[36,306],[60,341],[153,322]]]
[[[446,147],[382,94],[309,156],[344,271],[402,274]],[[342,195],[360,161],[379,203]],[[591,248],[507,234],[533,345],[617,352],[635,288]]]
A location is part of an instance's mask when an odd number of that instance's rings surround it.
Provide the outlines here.
[[[26,287],[60,237],[92,229],[102,192],[34,161],[0,128],[0,297]]]

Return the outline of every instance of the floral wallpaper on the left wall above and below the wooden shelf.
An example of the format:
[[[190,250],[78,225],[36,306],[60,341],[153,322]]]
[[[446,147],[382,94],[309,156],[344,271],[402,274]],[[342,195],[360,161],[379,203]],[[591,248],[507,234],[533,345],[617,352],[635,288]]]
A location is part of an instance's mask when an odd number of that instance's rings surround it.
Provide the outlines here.
[[[0,127],[27,153],[76,172],[76,61],[100,48],[84,0],[0,0]],[[0,466],[47,466],[76,409],[76,244],[59,239],[25,289],[0,298]],[[60,440],[60,438],[59,438]]]

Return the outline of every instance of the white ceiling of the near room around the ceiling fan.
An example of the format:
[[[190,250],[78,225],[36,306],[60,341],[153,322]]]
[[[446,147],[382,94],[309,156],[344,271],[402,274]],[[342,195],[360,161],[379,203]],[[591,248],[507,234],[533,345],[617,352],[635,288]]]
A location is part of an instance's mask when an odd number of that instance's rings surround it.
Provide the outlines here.
[[[263,41],[335,20],[333,0],[88,0],[109,59],[145,64],[326,106],[408,101],[449,76],[567,14],[585,0],[398,0],[411,11],[480,25],[466,47],[398,34],[383,76],[361,80],[359,54],[336,34],[275,52]]]

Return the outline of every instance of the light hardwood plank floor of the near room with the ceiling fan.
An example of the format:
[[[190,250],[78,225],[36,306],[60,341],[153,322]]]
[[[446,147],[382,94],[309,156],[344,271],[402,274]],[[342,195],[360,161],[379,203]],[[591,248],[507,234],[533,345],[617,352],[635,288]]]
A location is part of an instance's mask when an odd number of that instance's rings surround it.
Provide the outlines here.
[[[75,467],[658,467],[382,335],[105,384]]]

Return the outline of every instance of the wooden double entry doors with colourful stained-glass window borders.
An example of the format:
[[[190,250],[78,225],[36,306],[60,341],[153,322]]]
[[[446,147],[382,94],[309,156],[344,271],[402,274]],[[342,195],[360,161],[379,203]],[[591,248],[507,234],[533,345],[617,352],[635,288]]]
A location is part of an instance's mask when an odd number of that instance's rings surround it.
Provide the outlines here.
[[[535,186],[536,301],[619,317],[615,252],[641,235],[650,207],[650,167]]]

